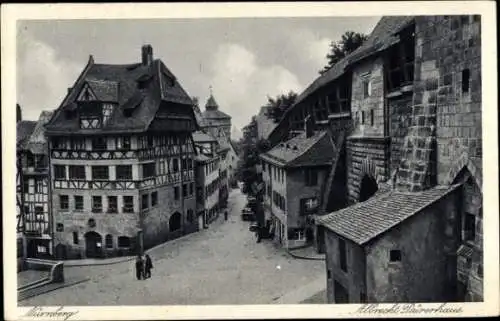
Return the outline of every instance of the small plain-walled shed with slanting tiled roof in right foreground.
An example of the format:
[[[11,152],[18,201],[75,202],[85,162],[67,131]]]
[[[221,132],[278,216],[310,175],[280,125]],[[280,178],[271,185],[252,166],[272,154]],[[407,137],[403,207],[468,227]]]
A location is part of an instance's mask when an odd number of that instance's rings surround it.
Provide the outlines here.
[[[458,186],[411,195],[378,192],[318,218],[326,233],[329,303],[447,302],[456,276],[446,220],[457,215]]]

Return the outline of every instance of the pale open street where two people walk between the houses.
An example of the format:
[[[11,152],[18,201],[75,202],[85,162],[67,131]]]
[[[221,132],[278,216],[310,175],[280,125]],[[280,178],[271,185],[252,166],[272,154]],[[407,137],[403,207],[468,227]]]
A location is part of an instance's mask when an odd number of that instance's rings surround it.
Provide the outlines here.
[[[19,304],[266,304],[325,275],[323,261],[293,259],[268,240],[256,243],[249,223],[240,218],[244,204],[245,196],[233,190],[228,221],[220,215],[209,229],[152,250],[151,279],[136,280],[133,261],[68,267],[68,277],[91,280]]]

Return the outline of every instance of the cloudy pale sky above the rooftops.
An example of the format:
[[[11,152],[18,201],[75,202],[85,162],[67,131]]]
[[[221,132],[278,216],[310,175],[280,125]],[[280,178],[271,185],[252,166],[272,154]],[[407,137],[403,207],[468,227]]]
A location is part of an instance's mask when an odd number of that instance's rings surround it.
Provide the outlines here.
[[[300,93],[327,62],[331,41],[369,34],[380,17],[31,20],[17,25],[17,101],[23,119],[56,109],[87,64],[140,62],[151,44],[203,110],[212,87],[233,133],[267,102]],[[238,137],[233,137],[238,138]]]

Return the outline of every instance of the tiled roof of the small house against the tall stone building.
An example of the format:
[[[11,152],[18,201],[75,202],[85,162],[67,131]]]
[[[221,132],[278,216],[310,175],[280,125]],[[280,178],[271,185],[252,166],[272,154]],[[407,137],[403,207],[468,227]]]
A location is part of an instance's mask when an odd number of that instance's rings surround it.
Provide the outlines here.
[[[287,167],[329,165],[337,149],[326,131],[311,137],[302,133],[261,155],[262,159]]]

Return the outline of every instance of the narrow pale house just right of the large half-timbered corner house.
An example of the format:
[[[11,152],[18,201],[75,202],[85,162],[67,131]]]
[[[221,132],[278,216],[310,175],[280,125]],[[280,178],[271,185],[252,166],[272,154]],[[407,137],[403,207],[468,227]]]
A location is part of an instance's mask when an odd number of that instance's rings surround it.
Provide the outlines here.
[[[193,133],[196,156],[196,200],[199,228],[207,227],[220,212],[220,164],[218,142],[212,136]]]

